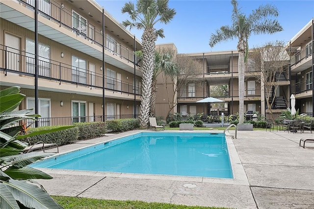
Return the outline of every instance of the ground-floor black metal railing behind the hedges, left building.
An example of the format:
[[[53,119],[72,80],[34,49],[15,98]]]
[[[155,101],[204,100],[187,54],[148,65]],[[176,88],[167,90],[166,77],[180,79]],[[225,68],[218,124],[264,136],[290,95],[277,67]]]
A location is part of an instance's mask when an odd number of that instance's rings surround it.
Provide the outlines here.
[[[136,118],[138,115],[135,115]],[[105,121],[113,119],[124,119],[124,118],[134,118],[134,114],[123,114],[123,115],[105,115]],[[53,117],[53,118],[38,118],[38,126],[71,126],[74,123],[79,122],[102,122],[103,116],[80,116],[80,117]],[[33,120],[25,120],[27,126],[35,127],[35,122]]]

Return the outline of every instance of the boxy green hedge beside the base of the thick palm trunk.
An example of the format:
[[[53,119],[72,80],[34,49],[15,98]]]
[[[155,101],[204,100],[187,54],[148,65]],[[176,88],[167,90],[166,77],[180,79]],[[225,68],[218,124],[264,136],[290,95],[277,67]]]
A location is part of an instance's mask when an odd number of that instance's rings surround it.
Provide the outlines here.
[[[129,131],[139,128],[139,120],[135,118],[128,119],[115,119],[106,121],[107,129],[117,132],[117,131]]]

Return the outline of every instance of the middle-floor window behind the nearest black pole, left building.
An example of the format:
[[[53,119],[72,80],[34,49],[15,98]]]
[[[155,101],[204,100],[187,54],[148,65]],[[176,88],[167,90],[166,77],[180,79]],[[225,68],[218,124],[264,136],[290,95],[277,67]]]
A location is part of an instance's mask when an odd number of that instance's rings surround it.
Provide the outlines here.
[[[35,74],[35,42],[26,38],[26,72]],[[50,77],[50,46],[38,43],[38,75]]]

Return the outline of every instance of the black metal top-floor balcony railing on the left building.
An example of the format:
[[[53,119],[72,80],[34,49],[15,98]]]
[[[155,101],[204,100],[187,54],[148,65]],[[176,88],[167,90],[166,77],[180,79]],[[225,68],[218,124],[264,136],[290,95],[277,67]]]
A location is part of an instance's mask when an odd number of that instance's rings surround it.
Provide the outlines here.
[[[20,1],[26,5],[26,8],[34,10],[35,0]],[[103,47],[102,29],[93,26],[75,11],[66,9],[63,4],[59,4],[54,0],[40,0],[38,1],[38,11],[40,15],[58,23],[59,26],[64,26],[78,36],[82,36],[84,39],[90,40],[92,43]],[[105,35],[104,45],[107,51],[118,54],[121,58],[128,61],[134,61],[134,52],[108,35]]]

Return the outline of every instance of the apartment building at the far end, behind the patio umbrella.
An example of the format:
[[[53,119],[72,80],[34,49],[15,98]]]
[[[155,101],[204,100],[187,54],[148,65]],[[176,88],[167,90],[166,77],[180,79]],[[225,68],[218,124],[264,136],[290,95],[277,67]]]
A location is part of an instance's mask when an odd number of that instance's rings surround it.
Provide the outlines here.
[[[169,49],[169,44],[159,46],[159,48],[162,47]],[[192,115],[204,113],[212,116],[221,115],[223,112],[224,115],[236,115],[239,107],[238,52],[189,53],[184,54],[184,56],[198,60],[202,67],[194,69],[193,76],[197,78],[196,81],[193,79],[194,81],[180,86],[177,92],[178,104],[173,112]],[[278,88],[276,94],[273,93],[275,98],[272,106],[272,112],[275,117],[278,117],[280,112],[289,105],[290,82],[288,75],[288,68],[276,75]],[[244,112],[259,112],[265,117],[269,117],[269,111],[265,102],[263,80],[260,77],[261,68],[248,62],[245,67]],[[158,88],[161,88],[160,92],[164,92],[165,89],[163,89],[160,78],[159,86]],[[159,94],[157,97],[157,104],[161,104],[161,107],[157,107],[156,114],[163,117],[166,117],[163,109],[166,108],[165,104],[168,102],[165,96],[165,94]],[[217,98],[224,101],[224,103],[197,103],[197,101],[207,97]]]

